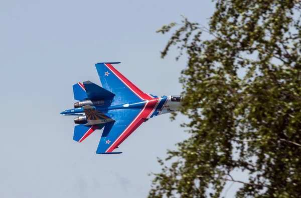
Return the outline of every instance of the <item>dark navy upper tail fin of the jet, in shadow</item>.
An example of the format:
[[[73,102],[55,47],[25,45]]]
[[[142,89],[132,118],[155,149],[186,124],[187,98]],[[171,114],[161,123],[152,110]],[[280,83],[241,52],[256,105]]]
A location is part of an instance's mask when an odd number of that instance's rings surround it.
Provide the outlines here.
[[[85,87],[86,94],[89,99],[99,99],[99,98],[113,99],[113,97],[115,96],[115,94],[112,93],[111,91],[108,91],[91,81],[84,81],[83,85]]]

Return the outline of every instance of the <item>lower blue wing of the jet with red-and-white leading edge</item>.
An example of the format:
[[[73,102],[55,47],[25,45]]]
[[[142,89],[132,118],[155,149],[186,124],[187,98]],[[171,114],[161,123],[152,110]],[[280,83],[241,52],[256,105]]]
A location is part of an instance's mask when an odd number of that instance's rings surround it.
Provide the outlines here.
[[[121,153],[112,151],[140,126],[141,123],[147,120],[145,117],[148,117],[148,115],[152,113],[153,108],[146,108],[146,105],[147,102],[145,102],[142,109],[118,109],[109,111],[109,113],[115,114],[115,121],[106,123],[96,153]]]

